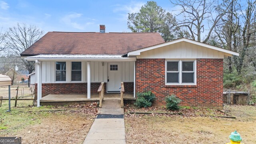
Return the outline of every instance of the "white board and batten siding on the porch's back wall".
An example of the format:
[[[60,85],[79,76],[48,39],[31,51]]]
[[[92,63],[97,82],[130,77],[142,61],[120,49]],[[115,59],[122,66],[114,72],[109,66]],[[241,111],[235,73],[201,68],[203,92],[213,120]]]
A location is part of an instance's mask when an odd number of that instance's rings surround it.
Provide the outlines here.
[[[42,83],[72,83],[87,82],[87,64],[82,61],[82,81],[71,81],[71,61],[66,61],[66,81],[56,82],[56,64],[55,61],[42,62]],[[108,80],[108,63],[91,61],[91,82],[107,82]],[[120,62],[122,82],[134,81],[134,62]]]

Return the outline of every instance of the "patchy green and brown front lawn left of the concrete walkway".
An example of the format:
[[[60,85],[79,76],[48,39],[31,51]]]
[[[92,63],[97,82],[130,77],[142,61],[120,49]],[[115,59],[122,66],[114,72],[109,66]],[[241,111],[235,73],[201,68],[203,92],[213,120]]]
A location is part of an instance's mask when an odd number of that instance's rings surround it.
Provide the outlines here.
[[[82,144],[96,117],[89,105],[0,108],[0,136],[21,136],[24,144]]]

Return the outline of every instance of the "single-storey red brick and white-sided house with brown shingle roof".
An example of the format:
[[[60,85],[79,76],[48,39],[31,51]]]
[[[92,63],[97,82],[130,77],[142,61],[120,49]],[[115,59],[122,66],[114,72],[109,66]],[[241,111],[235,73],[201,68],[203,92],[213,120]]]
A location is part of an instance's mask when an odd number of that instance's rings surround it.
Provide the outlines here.
[[[222,107],[223,59],[232,55],[239,54],[186,38],[164,42],[155,32],[106,33],[104,25],[100,32],[48,32],[21,53],[36,61],[41,104],[97,101],[101,82],[106,94],[120,92],[124,82],[127,102],[150,90],[154,105],[176,94],[182,106],[212,108]]]

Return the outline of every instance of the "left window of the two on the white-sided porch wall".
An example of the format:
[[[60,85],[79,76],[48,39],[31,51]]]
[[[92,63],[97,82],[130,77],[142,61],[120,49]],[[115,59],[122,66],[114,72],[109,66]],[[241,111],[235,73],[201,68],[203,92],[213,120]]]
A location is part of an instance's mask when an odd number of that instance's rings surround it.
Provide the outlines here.
[[[66,81],[66,62],[56,62],[56,81]]]

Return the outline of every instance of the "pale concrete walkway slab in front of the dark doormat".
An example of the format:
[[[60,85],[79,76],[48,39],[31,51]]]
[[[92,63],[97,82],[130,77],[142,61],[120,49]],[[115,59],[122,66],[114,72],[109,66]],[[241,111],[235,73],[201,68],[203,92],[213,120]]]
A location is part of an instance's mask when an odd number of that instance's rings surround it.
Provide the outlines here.
[[[126,144],[123,118],[96,118],[84,144]]]

